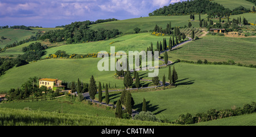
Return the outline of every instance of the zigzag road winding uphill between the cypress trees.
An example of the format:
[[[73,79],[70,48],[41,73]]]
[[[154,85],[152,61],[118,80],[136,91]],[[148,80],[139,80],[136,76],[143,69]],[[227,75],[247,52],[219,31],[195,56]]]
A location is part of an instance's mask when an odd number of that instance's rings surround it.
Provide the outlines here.
[[[184,45],[184,44],[187,44],[188,42],[191,42],[191,41],[192,41],[192,38],[191,38],[191,37],[188,37],[188,38],[189,38],[189,40],[184,41],[184,42],[181,42],[180,44],[177,44],[176,46],[172,47],[171,50],[174,50],[174,49],[176,49],[176,48],[179,48],[179,46],[181,46],[181,45]],[[163,52],[160,52],[160,54],[163,54],[163,53],[169,52],[169,51],[170,51],[170,49],[167,49],[167,50],[164,50]],[[159,59],[159,60],[164,62],[164,59]],[[168,65],[171,65],[172,63],[174,63],[174,62],[168,61],[167,66],[168,66]],[[163,66],[166,66],[166,64],[160,65],[160,66],[158,66],[158,67],[163,67]],[[132,71],[131,71],[131,72],[132,72]],[[140,81],[152,82],[152,80],[146,80],[146,79],[140,79]],[[162,87],[162,86],[163,86],[163,82],[159,82],[159,83],[160,83],[160,85],[158,85],[157,87]],[[170,85],[170,83],[168,83],[168,82],[166,82],[165,84],[166,84],[166,85]],[[139,89],[146,89],[146,88],[155,88],[155,86],[154,86],[154,87],[142,87],[142,88],[139,88]],[[130,88],[129,90],[137,90],[137,88]],[[115,91],[122,91],[122,90],[119,90],[119,89],[118,89],[118,90],[113,90],[113,91],[109,91],[109,92],[115,92]],[[105,92],[105,91],[102,91],[102,92]],[[92,99],[90,99],[89,93],[84,93],[83,96],[85,97],[86,100],[89,100],[89,101],[92,102]],[[93,102],[94,102],[94,103],[97,103],[97,104],[100,104],[100,102],[97,101],[97,100],[93,100]],[[101,104],[102,104],[102,105],[107,105],[105,102],[102,102]],[[115,106],[113,106],[113,104],[109,104],[108,106],[115,107]],[[124,109],[124,108],[123,108],[123,109]],[[134,117],[134,115],[135,115],[135,114],[138,114],[138,113],[139,113],[139,112],[137,112],[136,110],[133,110],[133,113],[132,113],[131,115]]]

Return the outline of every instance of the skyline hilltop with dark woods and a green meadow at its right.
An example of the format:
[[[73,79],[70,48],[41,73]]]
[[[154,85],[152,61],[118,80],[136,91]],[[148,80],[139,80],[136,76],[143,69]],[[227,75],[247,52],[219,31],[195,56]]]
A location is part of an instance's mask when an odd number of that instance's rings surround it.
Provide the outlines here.
[[[253,7],[253,3],[245,0],[194,0],[194,1],[183,1],[170,4],[159,8],[150,14],[149,16],[160,16],[160,15],[188,15],[188,14],[208,14],[208,15],[237,15],[249,12]]]

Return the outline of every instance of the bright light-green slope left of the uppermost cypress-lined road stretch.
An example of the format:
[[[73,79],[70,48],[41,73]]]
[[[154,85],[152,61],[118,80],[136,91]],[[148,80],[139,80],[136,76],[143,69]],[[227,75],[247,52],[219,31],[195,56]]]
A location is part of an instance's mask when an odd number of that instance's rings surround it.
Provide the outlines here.
[[[68,54],[87,54],[87,53],[98,53],[103,51],[110,53],[110,46],[115,46],[115,52],[125,51],[138,51],[146,50],[151,42],[153,43],[154,49],[156,49],[156,41],[162,41],[163,38],[169,40],[169,36],[154,36],[151,33],[138,33],[134,35],[125,35],[112,40],[104,40],[97,42],[88,42],[84,44],[72,44],[64,45],[56,48],[47,49],[47,54],[42,58],[46,58],[49,54],[54,54],[57,50],[64,50]],[[110,44],[114,42],[114,44]]]

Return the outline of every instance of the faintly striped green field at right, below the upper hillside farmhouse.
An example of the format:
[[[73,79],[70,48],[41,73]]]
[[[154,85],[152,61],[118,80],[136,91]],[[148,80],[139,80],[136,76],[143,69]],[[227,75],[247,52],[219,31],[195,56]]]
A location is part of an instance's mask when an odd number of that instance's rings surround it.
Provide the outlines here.
[[[224,36],[205,36],[189,42],[168,53],[172,61],[176,59],[197,61],[207,59],[210,62],[227,62],[256,65],[256,38],[232,38]]]

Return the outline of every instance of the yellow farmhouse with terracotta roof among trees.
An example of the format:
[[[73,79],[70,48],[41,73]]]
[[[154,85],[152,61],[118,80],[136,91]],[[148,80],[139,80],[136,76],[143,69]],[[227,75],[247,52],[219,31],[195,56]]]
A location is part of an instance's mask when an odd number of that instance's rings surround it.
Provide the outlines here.
[[[56,89],[64,90],[65,86],[61,85],[61,83],[62,81],[58,79],[39,79],[39,88],[44,85],[53,91],[56,91]]]

